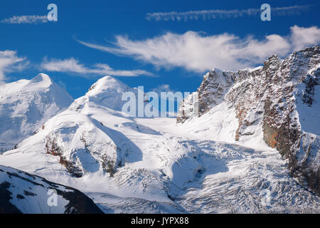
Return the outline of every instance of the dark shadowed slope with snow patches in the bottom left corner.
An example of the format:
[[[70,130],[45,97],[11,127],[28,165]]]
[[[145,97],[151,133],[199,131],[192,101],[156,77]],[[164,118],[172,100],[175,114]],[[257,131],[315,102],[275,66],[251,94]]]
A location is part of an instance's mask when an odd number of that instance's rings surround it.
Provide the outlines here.
[[[102,214],[78,190],[4,165],[0,165],[0,192],[0,214]]]

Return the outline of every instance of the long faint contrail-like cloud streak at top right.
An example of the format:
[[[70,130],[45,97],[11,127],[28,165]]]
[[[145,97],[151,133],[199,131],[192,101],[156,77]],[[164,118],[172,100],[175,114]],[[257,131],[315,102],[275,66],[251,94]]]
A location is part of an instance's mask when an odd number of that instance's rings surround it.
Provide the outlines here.
[[[307,11],[310,5],[303,6],[285,6],[285,7],[272,7],[272,16],[287,16],[301,14]],[[260,14],[260,9],[233,9],[233,10],[201,10],[201,11],[186,11],[186,12],[156,12],[146,14],[147,20],[156,21],[188,21],[198,19],[225,19],[225,18],[238,18],[242,16],[257,16]]]

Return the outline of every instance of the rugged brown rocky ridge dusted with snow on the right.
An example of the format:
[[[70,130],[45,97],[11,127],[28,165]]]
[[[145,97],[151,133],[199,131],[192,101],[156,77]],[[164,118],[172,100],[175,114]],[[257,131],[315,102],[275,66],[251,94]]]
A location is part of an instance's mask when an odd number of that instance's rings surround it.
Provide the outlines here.
[[[262,137],[267,145],[277,148],[281,155],[289,160],[292,176],[297,177],[301,185],[309,187],[318,195],[319,49],[319,46],[306,48],[292,53],[284,60],[274,55],[270,56],[262,67],[233,73],[223,72],[223,76],[230,75],[231,85],[225,83],[230,85],[229,87],[220,86],[224,85],[221,77],[209,80],[208,74],[212,74],[209,72],[196,92],[198,116],[207,113],[219,103],[233,108],[238,118],[235,140]],[[214,90],[215,88],[217,90]],[[226,93],[224,88],[228,90]],[[188,98],[181,103],[178,123],[195,116],[190,114],[195,103]],[[262,131],[261,135],[259,131]]]

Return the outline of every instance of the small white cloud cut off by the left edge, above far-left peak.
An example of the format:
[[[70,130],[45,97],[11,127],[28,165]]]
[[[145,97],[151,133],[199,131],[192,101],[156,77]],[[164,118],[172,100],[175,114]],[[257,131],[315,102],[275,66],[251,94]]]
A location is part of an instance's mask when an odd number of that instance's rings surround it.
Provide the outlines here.
[[[0,51],[0,83],[6,79],[6,73],[22,71],[27,66],[26,58],[17,56],[16,51]]]

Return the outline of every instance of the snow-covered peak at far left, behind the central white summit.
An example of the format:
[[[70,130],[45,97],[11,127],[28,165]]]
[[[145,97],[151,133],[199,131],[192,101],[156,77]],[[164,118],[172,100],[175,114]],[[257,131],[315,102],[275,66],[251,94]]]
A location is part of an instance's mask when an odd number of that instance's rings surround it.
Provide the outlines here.
[[[0,86],[0,152],[11,150],[73,98],[44,73]]]

